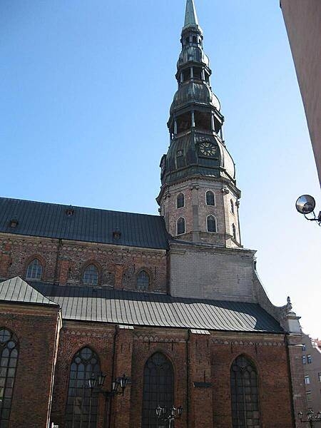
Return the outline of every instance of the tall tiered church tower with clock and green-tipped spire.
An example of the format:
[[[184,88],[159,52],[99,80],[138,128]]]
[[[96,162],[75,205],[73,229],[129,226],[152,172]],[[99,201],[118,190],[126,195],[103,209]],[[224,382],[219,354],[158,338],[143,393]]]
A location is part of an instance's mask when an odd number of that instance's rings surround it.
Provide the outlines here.
[[[240,248],[240,190],[193,0],[186,3],[180,42],[178,91],[168,121],[170,146],[160,165],[160,212],[178,240]]]

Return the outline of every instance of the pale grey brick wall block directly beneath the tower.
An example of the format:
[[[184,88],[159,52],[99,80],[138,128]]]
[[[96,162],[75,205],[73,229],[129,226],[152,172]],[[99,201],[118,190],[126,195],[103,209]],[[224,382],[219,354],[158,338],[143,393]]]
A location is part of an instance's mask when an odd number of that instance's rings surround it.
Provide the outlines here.
[[[170,244],[170,294],[255,302],[251,250]],[[227,268],[228,266],[228,268]]]

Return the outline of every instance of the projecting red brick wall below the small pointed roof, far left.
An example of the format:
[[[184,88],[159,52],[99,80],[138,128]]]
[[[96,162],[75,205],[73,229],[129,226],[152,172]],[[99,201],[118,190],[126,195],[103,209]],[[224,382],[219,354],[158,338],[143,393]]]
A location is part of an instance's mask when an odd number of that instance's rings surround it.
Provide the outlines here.
[[[19,340],[10,427],[47,427],[60,328],[58,307],[0,305],[0,327]]]

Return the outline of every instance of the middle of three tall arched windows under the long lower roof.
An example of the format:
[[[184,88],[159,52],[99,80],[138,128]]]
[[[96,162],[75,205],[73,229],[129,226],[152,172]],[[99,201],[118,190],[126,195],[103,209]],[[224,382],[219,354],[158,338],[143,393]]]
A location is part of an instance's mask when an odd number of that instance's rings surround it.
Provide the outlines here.
[[[142,428],[158,428],[155,409],[160,405],[170,409],[174,404],[174,371],[173,365],[156,352],[146,362],[143,375],[143,410]]]

